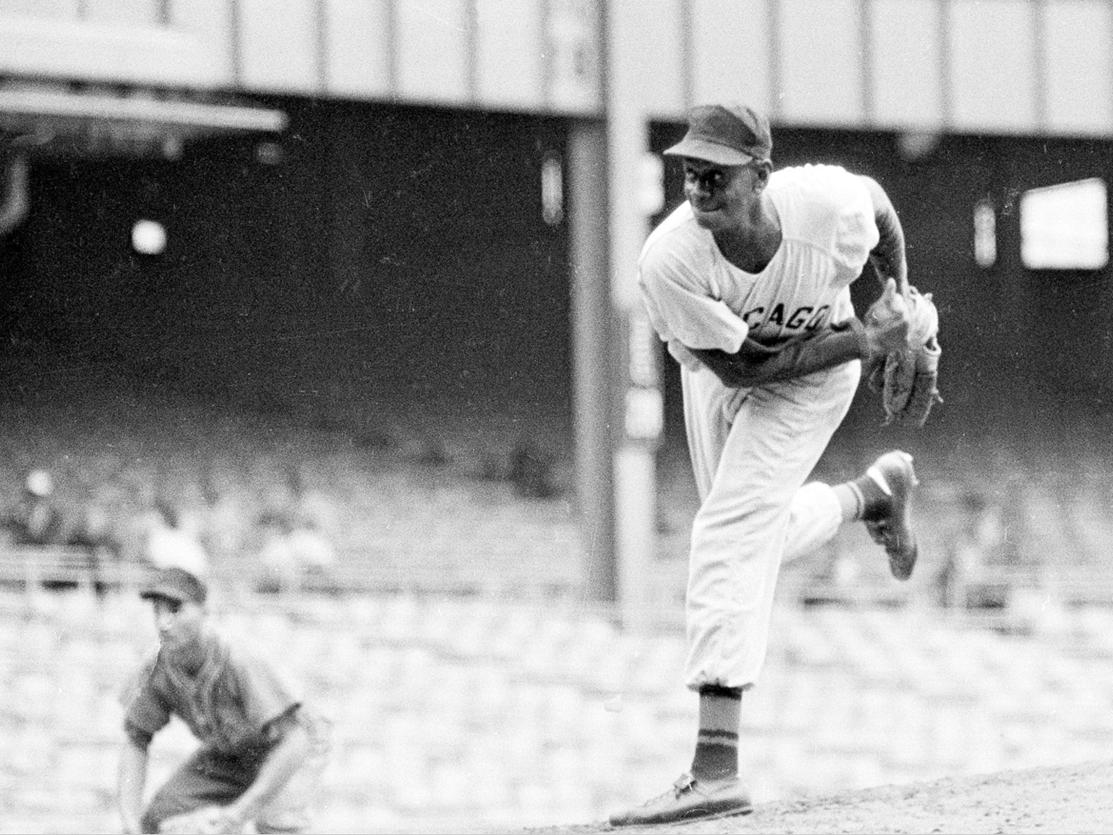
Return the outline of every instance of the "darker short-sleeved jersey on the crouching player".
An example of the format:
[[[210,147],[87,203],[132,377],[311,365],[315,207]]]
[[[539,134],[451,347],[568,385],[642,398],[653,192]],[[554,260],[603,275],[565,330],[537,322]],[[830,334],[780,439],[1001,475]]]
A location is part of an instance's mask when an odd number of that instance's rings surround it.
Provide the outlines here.
[[[206,747],[240,757],[262,755],[272,744],[265,727],[301,705],[301,694],[246,647],[213,631],[205,645],[207,656],[196,675],[166,652],[149,658],[125,691],[125,725],[154,736],[174,715]]]

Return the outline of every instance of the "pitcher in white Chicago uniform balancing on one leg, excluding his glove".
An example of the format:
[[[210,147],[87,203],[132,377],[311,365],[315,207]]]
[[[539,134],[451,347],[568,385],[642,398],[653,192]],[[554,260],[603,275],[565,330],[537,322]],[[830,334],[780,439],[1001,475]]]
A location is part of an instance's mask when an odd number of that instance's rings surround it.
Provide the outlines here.
[[[888,452],[854,481],[805,484],[845,418],[863,361],[904,352],[904,235],[885,191],[839,166],[777,171],[766,118],[701,105],[680,157],[688,198],[649,236],[639,284],[681,365],[684,423],[701,498],[692,525],[686,684],[699,694],[691,768],[659,797],[611,817],[643,825],[740,814],[742,691],[765,661],[781,561],[864,520],[893,573],[916,560],[912,458]],[[883,286],[864,321],[850,283],[873,262]],[[928,297],[929,302],[929,297]],[[934,382],[934,381],[933,381]]]

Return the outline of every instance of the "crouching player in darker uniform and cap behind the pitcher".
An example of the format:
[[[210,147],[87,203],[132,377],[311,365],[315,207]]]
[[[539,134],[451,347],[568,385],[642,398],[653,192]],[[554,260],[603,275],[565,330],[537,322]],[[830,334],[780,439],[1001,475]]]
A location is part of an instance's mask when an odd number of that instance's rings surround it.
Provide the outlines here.
[[[162,569],[141,596],[155,608],[158,651],[124,697],[117,798],[127,833],[304,832],[328,750],[327,720],[278,672],[221,636],[205,584]],[[170,717],[198,749],[144,808],[148,746]]]

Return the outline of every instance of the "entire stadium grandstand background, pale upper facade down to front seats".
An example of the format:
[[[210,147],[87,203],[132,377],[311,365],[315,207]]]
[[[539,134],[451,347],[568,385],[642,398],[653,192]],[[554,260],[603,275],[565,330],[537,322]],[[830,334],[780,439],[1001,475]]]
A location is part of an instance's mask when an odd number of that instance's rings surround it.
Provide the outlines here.
[[[945,350],[927,428],[864,385],[817,468],[912,452],[923,553],[785,567],[755,799],[1106,756],[1113,12],[640,6],[0,0],[0,508],[61,520],[0,542],[0,832],[119,829],[161,505],[333,720],[318,831],[589,823],[676,777],[698,499],[630,284],[723,95],[778,165],[884,183]],[[276,518],[322,570],[276,579]]]

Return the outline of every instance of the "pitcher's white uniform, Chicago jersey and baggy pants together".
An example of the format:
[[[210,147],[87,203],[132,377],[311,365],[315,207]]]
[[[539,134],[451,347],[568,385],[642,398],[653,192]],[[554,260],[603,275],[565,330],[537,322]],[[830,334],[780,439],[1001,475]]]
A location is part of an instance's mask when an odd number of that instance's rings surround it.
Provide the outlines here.
[[[760,273],[719,252],[686,202],[638,262],[650,321],[681,364],[684,422],[701,505],[688,579],[688,687],[750,687],[765,662],[782,559],[841,523],[831,489],[805,484],[854,399],[858,361],[797,380],[730,389],[687,348],[807,338],[854,316],[849,285],[877,245],[863,181],[838,166],[770,175],[781,244]]]

